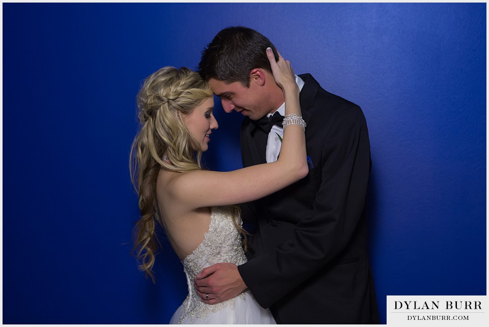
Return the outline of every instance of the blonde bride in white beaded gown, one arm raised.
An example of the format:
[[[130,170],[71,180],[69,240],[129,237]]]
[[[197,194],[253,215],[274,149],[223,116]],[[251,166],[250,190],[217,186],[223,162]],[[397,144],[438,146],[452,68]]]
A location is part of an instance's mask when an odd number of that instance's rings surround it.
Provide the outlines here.
[[[285,96],[284,136],[276,162],[229,172],[203,170],[202,152],[218,128],[207,82],[187,68],[164,67],[150,75],[138,94],[141,128],[131,147],[131,177],[139,194],[141,218],[135,224],[135,255],[140,270],[151,272],[157,240],[155,221],[164,226],[179,256],[188,296],[170,323],[275,323],[249,290],[217,305],[201,298],[195,276],[218,262],[246,262],[236,203],[257,200],[302,179],[308,173],[299,90],[290,63],[266,51],[275,82]],[[244,242],[246,243],[246,242]],[[246,244],[244,245],[246,248]]]

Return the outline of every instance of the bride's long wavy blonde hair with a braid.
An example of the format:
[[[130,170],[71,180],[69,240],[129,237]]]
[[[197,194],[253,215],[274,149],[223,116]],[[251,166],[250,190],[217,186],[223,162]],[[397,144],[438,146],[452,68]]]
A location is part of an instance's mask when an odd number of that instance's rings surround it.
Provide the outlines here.
[[[141,126],[132,142],[129,159],[131,181],[138,192],[141,211],[141,218],[134,226],[133,253],[140,260],[139,269],[153,282],[151,270],[158,248],[155,220],[165,226],[157,211],[158,172],[160,169],[176,172],[202,170],[202,151],[194,150],[192,144],[198,142],[186,128],[182,115],[192,113],[212,96],[209,84],[186,67],[159,69],[146,78],[138,93]],[[171,164],[162,159],[165,154]],[[233,221],[243,233],[236,222],[239,215],[239,207],[236,207]]]

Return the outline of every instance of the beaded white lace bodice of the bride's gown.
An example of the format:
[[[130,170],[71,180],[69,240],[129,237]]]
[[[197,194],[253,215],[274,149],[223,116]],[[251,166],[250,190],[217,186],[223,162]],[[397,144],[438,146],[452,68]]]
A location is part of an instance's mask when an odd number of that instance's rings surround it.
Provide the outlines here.
[[[214,263],[231,262],[236,265],[246,262],[246,256],[241,246],[241,237],[232,221],[230,206],[214,206],[211,209],[209,231],[204,235],[204,241],[182,260],[187,277],[188,295],[182,304],[183,312],[180,322],[185,317],[192,320],[205,317],[209,312],[216,312],[226,306],[234,306],[234,299],[220,304],[209,305],[201,301],[194,288],[194,278],[204,269]],[[244,299],[244,293],[241,293]]]

